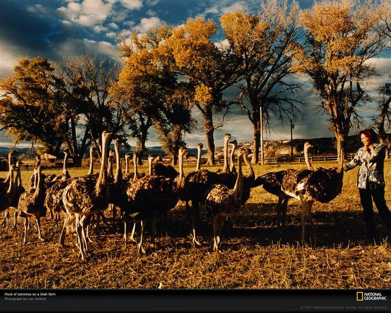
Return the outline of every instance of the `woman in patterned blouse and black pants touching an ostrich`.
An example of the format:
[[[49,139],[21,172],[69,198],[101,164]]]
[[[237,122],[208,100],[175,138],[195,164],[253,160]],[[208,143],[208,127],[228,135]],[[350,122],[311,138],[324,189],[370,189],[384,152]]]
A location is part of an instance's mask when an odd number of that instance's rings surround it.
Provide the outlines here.
[[[373,129],[365,129],[358,133],[363,147],[358,149],[354,158],[344,170],[349,171],[360,165],[357,176],[357,187],[360,193],[361,205],[364,209],[364,219],[367,225],[367,239],[373,242],[375,238],[375,223],[373,220],[373,202],[384,223],[389,229],[391,239],[391,213],[384,199],[384,158],[386,146],[377,143],[377,135]]]

